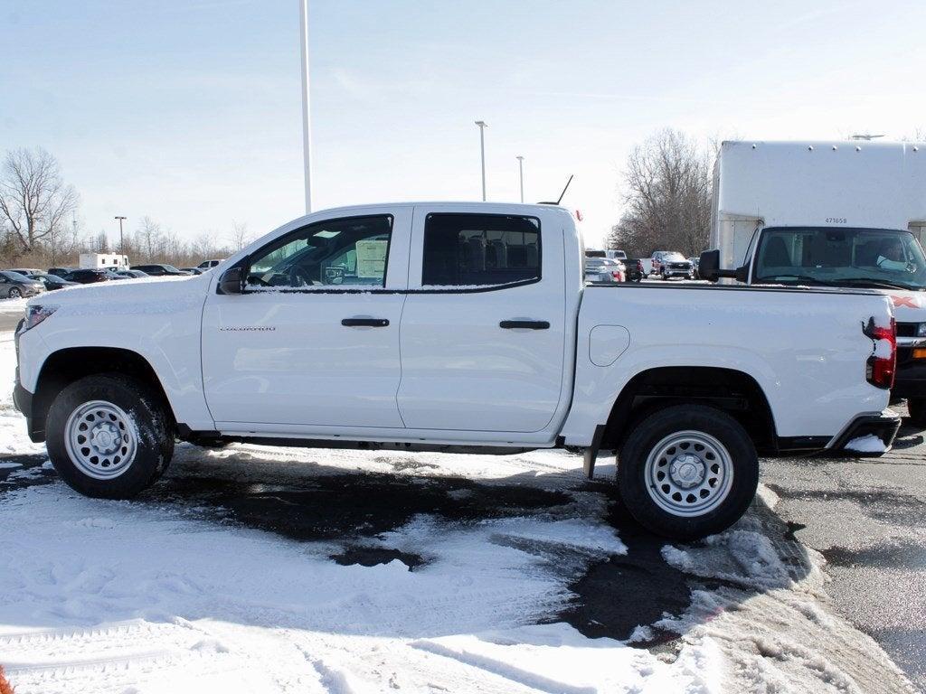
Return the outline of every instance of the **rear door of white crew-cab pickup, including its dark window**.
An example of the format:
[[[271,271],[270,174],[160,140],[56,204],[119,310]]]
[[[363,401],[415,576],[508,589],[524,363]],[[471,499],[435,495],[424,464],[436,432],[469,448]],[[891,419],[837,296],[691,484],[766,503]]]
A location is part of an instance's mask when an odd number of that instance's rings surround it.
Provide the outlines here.
[[[535,432],[565,397],[562,225],[489,209],[415,208],[398,389],[407,428]]]

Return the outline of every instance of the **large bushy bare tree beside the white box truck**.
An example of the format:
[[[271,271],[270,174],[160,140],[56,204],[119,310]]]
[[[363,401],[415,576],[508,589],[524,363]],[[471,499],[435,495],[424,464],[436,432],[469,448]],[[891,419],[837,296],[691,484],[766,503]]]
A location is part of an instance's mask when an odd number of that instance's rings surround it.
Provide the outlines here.
[[[679,130],[659,130],[633,148],[624,171],[624,212],[608,234],[611,248],[698,254],[710,231],[707,152]]]

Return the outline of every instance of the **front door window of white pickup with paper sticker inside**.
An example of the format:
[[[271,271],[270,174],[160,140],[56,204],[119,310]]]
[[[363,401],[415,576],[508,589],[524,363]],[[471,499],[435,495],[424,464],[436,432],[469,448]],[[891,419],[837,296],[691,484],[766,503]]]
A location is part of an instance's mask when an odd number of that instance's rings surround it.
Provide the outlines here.
[[[328,219],[297,229],[257,251],[249,289],[384,287],[393,217]]]

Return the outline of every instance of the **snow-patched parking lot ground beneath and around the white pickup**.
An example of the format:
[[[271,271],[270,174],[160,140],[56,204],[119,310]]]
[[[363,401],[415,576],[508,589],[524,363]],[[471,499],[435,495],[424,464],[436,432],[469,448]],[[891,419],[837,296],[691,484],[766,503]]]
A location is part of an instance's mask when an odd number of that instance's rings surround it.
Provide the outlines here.
[[[765,461],[744,519],[682,545],[623,513],[609,455],[587,482],[569,452],[183,444],[137,501],[86,499],[25,439],[11,376],[0,652],[19,694],[926,684],[918,432],[881,459]]]

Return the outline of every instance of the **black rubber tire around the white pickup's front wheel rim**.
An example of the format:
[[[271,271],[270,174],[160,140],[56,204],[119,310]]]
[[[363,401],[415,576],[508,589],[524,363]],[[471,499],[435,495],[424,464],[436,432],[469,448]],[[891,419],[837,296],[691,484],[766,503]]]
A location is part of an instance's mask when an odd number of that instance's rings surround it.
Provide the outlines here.
[[[131,462],[122,462],[124,469],[116,477],[93,477],[72,459],[68,451],[66,429],[70,416],[86,403],[94,401],[116,405],[134,427],[132,440],[137,432],[134,456]],[[103,421],[108,426],[105,418]],[[144,382],[119,374],[87,376],[57,394],[48,410],[45,446],[58,475],[73,490],[101,499],[129,499],[154,484],[167,469],[174,447],[170,421],[161,399]],[[121,442],[119,445],[122,445]],[[103,465],[108,465],[106,460]],[[99,469],[106,472],[103,468]]]

